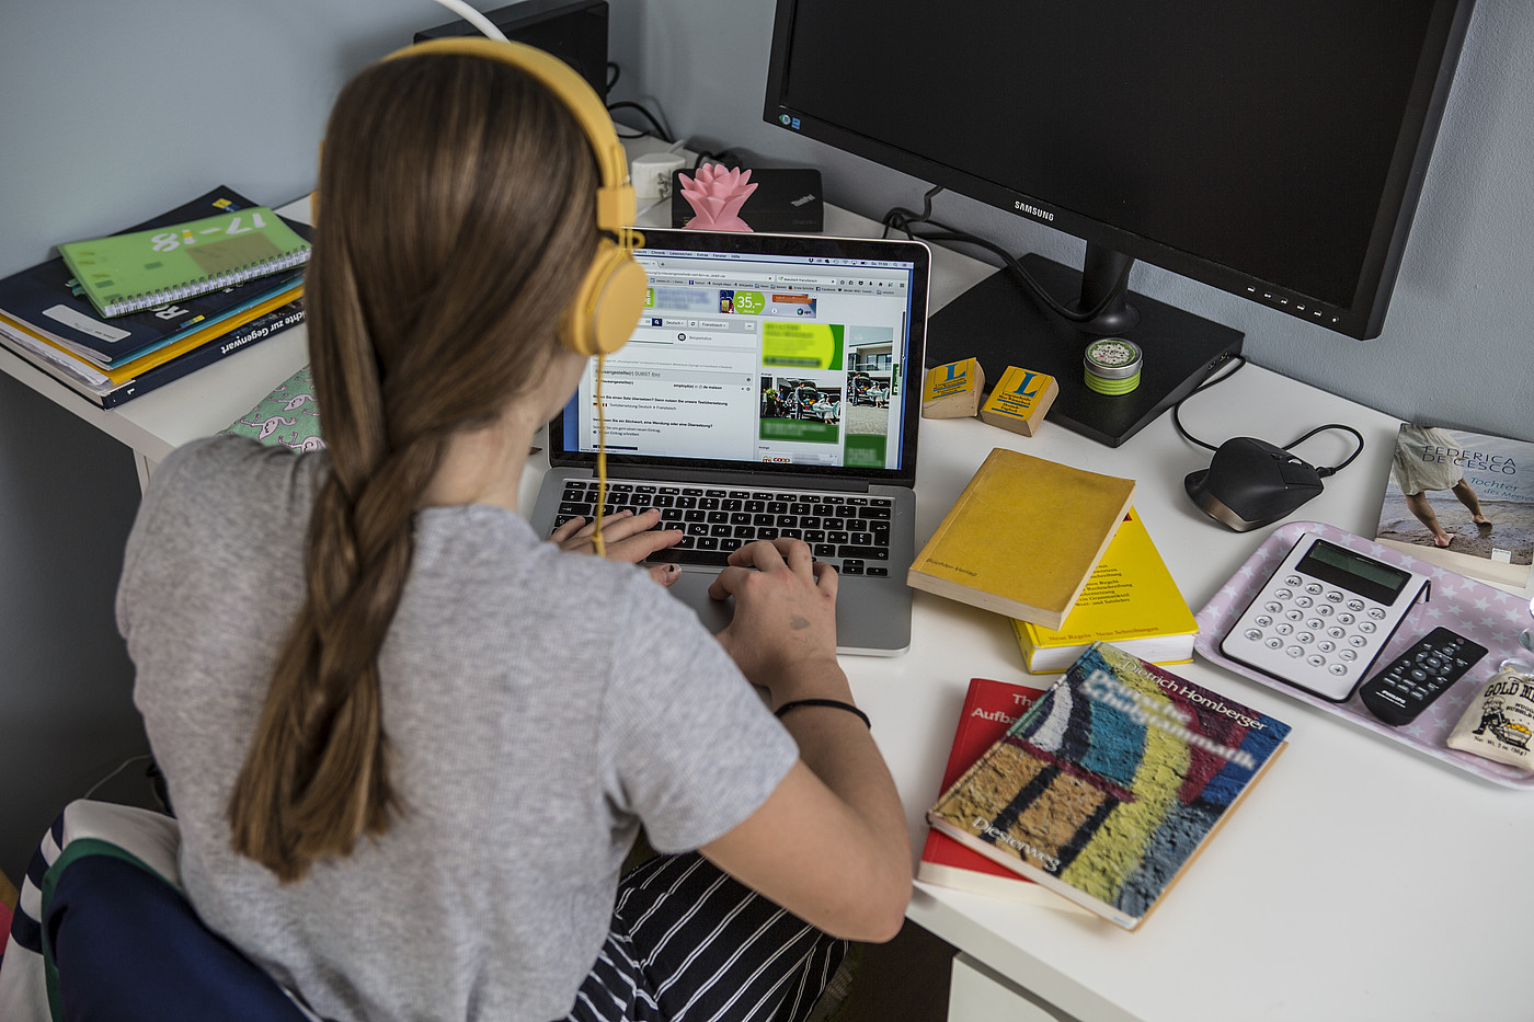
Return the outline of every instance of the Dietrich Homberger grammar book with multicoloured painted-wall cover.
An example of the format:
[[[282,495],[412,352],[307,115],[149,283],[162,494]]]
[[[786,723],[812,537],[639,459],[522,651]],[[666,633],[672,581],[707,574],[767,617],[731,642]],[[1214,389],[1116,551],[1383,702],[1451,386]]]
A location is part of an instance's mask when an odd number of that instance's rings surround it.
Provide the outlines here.
[[[1289,724],[1094,643],[928,810],[996,862],[1137,928]]]

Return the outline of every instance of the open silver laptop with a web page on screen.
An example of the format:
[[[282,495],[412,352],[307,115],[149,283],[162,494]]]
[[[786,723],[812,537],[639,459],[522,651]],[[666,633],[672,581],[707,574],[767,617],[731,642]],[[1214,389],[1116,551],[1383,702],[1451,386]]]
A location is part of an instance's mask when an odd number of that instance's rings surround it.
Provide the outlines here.
[[[606,513],[657,506],[686,532],[670,592],[713,631],[709,583],[730,549],[795,536],[841,572],[839,652],[911,641],[928,250],[916,241],[646,230],[650,276],[629,344],[606,361]],[[549,424],[532,509],[548,536],[591,517],[592,361]]]

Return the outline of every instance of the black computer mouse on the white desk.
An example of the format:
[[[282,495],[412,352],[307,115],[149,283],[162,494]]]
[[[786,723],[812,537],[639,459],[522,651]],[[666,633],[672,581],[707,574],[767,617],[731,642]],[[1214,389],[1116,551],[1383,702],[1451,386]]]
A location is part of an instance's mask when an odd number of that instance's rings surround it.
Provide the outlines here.
[[[1250,436],[1221,443],[1209,468],[1189,473],[1183,486],[1204,514],[1236,532],[1278,522],[1322,490],[1315,465]]]

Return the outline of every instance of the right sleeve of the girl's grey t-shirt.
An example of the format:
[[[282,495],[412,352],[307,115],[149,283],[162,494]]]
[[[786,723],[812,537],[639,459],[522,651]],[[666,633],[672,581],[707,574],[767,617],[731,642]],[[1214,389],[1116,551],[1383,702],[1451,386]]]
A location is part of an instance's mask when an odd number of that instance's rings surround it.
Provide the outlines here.
[[[692,611],[627,606],[632,641],[615,651],[603,704],[604,787],[657,852],[687,852],[756,812],[799,750]]]

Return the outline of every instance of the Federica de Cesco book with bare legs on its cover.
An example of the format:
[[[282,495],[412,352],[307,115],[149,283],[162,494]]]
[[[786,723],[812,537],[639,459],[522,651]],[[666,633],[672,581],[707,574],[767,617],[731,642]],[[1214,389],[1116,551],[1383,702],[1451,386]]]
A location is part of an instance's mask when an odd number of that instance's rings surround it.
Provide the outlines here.
[[[1534,443],[1402,424],[1374,542],[1462,575],[1526,586]]]

